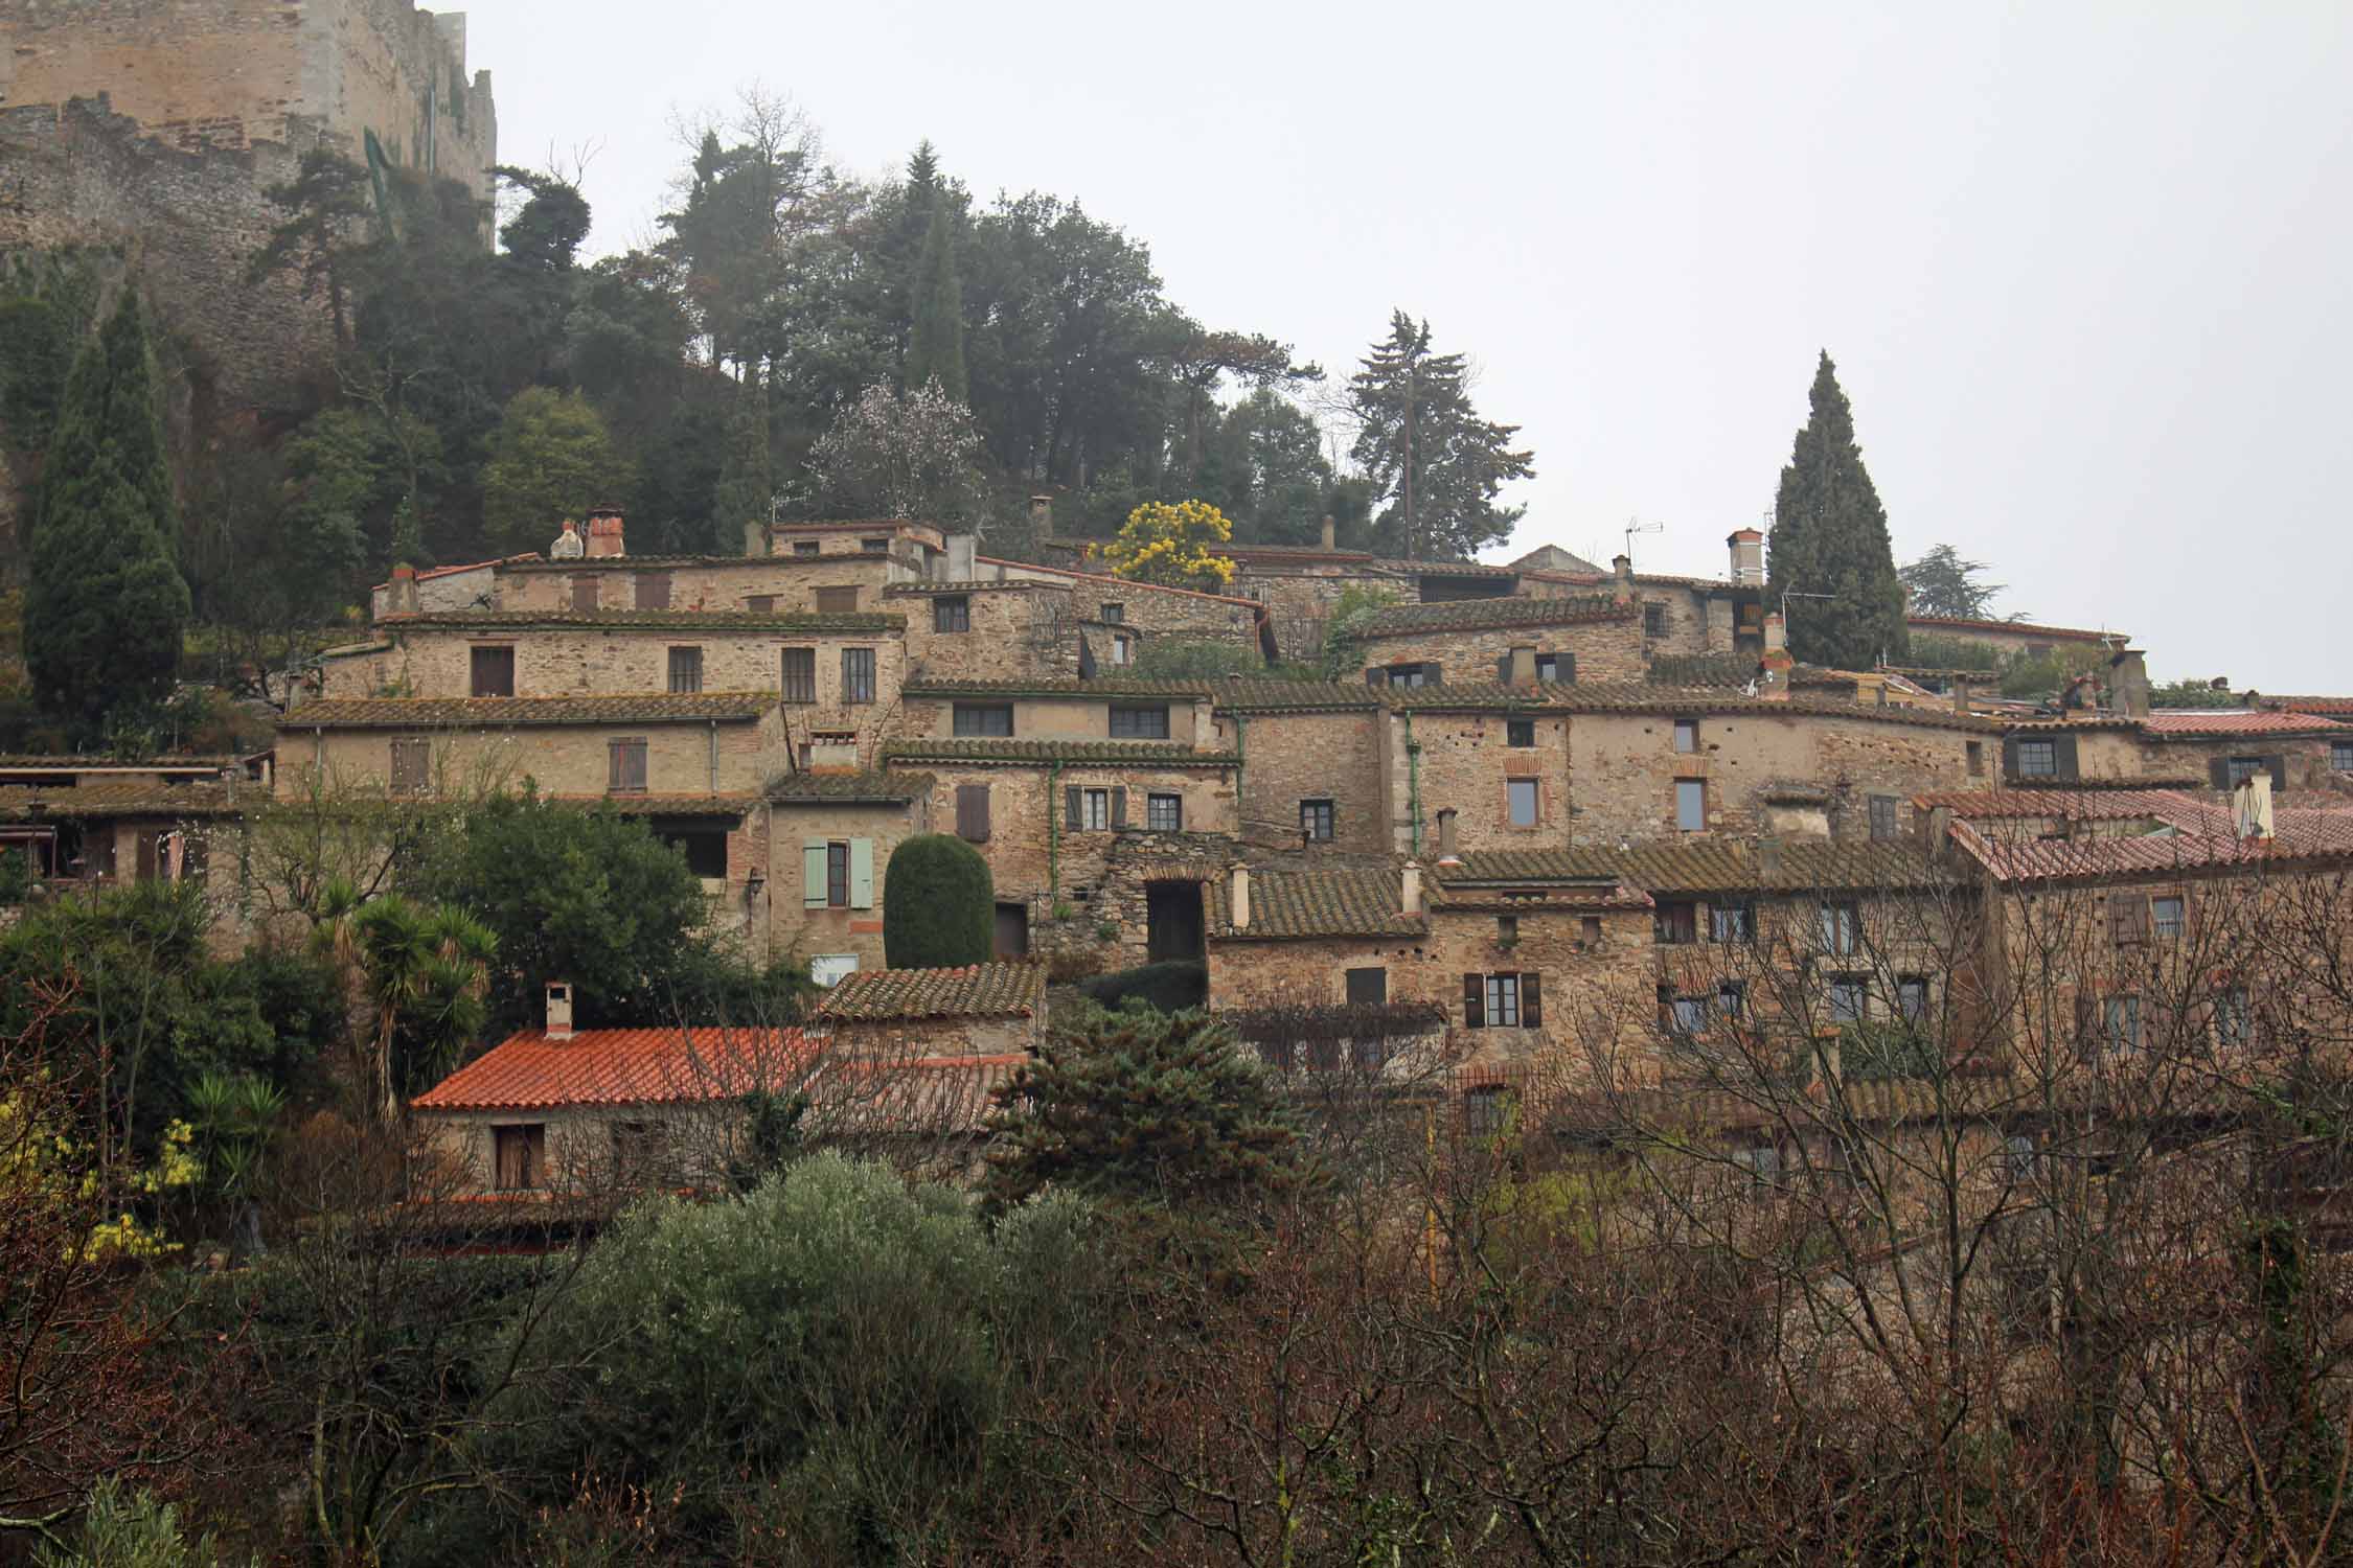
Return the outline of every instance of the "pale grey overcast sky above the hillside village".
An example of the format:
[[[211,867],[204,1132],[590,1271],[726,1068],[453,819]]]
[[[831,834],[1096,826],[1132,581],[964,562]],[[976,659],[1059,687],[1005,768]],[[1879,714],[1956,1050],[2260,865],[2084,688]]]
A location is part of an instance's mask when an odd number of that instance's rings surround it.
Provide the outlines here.
[[[1722,574],[1814,350],[1897,559],[2160,679],[2353,691],[2353,5],[946,7],[473,0],[499,153],[652,233],[753,80],[885,174],[1052,190],[1346,371],[1426,315],[1522,425],[1511,550]]]

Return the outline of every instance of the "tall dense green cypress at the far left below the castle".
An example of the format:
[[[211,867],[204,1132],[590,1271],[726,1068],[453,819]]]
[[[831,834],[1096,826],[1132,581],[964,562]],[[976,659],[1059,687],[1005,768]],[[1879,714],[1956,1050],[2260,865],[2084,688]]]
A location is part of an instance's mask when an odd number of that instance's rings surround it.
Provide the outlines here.
[[[188,621],[176,536],[146,322],[125,289],[66,381],[24,604],[33,689],[82,733],[172,691]]]

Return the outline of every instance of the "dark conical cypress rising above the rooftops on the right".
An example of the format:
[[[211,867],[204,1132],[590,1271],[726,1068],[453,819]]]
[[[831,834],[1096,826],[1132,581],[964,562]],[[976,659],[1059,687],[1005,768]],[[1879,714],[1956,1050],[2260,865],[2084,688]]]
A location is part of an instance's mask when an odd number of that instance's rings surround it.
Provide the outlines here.
[[[1788,651],[1833,670],[1868,670],[1911,651],[1904,583],[1887,545],[1887,510],[1854,444],[1854,411],[1828,350],[1814,369],[1812,414],[1798,430],[1774,498],[1769,599],[1791,602]]]

